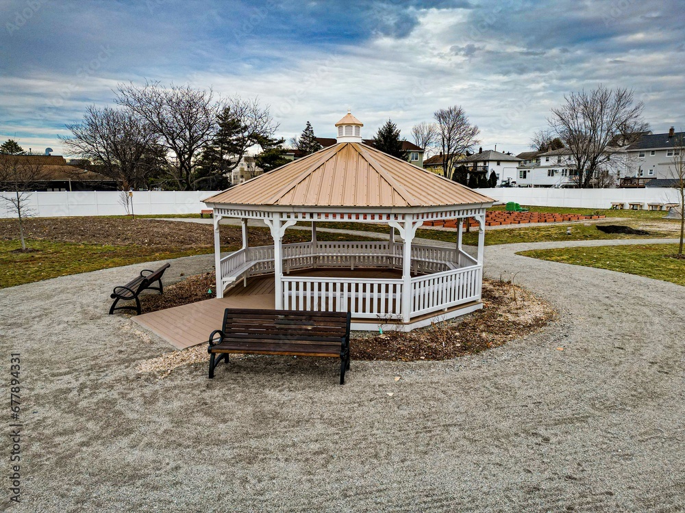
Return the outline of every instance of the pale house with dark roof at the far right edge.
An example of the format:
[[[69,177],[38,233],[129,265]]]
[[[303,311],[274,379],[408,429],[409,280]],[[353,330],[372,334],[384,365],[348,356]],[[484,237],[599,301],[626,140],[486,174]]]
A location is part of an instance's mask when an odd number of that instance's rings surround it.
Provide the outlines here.
[[[673,179],[673,157],[684,150],[683,140],[685,132],[676,132],[673,127],[666,133],[646,133],[638,142],[625,148],[627,166],[623,176],[635,179]]]

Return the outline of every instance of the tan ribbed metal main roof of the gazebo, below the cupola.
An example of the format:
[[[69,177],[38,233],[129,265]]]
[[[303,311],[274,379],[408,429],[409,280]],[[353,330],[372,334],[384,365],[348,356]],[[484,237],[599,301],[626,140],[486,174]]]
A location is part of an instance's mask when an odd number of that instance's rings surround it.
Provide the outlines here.
[[[336,144],[204,200],[288,207],[434,207],[494,200],[356,142]]]

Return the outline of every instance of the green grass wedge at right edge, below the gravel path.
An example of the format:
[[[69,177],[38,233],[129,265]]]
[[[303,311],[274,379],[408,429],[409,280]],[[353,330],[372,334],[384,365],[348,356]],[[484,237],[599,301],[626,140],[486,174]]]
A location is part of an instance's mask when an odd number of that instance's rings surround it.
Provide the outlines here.
[[[639,276],[670,281],[685,286],[685,260],[667,257],[669,254],[675,254],[677,249],[677,244],[645,244],[530,250],[518,254],[534,259],[638,274]]]

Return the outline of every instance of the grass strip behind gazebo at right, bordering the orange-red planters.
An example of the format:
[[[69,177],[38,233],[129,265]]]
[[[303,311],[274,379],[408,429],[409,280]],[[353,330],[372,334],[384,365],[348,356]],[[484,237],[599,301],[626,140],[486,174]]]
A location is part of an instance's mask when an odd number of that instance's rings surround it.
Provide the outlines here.
[[[662,217],[663,217],[662,212]],[[621,223],[630,225],[632,223]],[[354,223],[354,222],[322,222],[316,226],[321,228],[337,228],[339,230],[372,231],[377,233],[390,233],[390,228],[383,224]],[[566,235],[566,229],[571,228],[571,235]],[[317,232],[317,238],[319,237]],[[456,230],[430,230],[419,228],[416,237],[421,239],[433,239],[438,241],[453,242],[456,244]],[[669,231],[650,231],[649,235],[621,235],[603,233],[595,224],[586,225],[582,222],[571,225],[557,226],[555,224],[540,224],[540,226],[526,226],[525,228],[502,228],[499,230],[487,230],[485,233],[485,245],[494,246],[495,244],[516,244],[519,242],[549,242],[549,241],[586,241],[604,239],[656,239],[662,237],[675,237]],[[477,230],[464,233],[464,244],[477,246]]]

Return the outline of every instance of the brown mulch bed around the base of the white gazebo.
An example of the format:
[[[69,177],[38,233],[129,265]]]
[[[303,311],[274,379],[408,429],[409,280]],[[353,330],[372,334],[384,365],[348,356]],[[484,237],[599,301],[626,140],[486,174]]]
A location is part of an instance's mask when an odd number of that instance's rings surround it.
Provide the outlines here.
[[[209,289],[212,293],[208,293]],[[166,287],[163,295],[146,295],[142,309],[147,313],[214,297],[214,274],[199,274]],[[351,358],[448,360],[525,337],[545,326],[554,315],[549,304],[503,280],[483,280],[483,303],[482,310],[465,317],[408,333],[389,331],[370,336],[368,332],[356,332]]]

